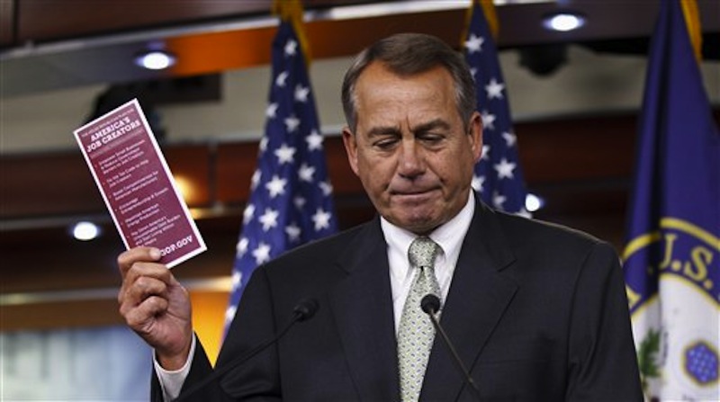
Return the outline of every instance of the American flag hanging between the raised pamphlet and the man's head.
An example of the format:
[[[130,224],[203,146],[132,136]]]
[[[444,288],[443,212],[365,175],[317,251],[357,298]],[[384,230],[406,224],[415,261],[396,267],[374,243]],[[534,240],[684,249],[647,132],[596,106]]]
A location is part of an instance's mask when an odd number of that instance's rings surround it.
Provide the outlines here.
[[[273,41],[266,119],[233,264],[226,328],[258,265],[338,226],[305,58],[286,21]]]

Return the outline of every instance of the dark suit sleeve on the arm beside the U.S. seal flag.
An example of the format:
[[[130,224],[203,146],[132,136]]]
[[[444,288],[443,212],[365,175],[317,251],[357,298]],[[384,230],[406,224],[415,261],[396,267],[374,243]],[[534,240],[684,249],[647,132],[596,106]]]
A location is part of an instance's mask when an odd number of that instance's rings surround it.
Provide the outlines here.
[[[611,246],[590,249],[574,291],[565,400],[642,401],[625,282]]]

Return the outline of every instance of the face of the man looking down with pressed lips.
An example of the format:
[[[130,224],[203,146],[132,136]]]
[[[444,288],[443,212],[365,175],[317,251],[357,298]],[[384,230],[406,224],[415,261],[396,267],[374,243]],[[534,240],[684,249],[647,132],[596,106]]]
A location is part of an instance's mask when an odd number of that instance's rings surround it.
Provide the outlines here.
[[[357,127],[343,130],[347,158],[378,212],[427,234],[467,202],[482,149],[475,112],[464,121],[445,68],[396,76],[373,63],[356,83]]]

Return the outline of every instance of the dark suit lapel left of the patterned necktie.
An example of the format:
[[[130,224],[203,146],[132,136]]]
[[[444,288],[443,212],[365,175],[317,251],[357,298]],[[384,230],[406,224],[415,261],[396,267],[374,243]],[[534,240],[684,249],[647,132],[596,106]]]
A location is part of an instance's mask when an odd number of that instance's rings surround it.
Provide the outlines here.
[[[352,243],[338,262],[348,275],[330,291],[330,308],[361,399],[396,400],[400,391],[392,290],[379,219],[365,225]]]

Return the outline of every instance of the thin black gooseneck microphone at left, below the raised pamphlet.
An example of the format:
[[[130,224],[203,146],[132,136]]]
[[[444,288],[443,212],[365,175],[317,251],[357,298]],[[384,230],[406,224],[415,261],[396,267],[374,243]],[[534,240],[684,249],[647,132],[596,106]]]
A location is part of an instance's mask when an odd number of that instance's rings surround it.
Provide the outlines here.
[[[175,398],[174,402],[181,402],[184,400],[187,400],[187,398],[197,392],[199,389],[204,388],[206,385],[211,383],[213,380],[218,380],[220,377],[225,375],[228,371],[231,371],[235,368],[237,368],[239,365],[243,364],[244,362],[247,362],[248,360],[255,357],[258,353],[261,353],[265,351],[268,347],[272,346],[273,344],[276,344],[280,339],[283,338],[285,334],[292,328],[296,323],[307,321],[311,319],[313,316],[315,316],[315,313],[318,312],[318,309],[320,308],[320,305],[318,304],[318,300],[316,299],[302,299],[298,302],[298,304],[295,305],[293,308],[293,317],[290,319],[290,322],[287,323],[284,328],[275,334],[274,337],[268,339],[266,342],[262,344],[258,344],[253,349],[250,349],[247,351],[247,353],[241,354],[237,358],[231,360],[224,366],[222,366],[220,369],[217,369],[213,371],[210,375],[205,377],[202,381],[196,383],[191,387],[190,389],[187,389],[185,392],[181,393],[177,398]]]

